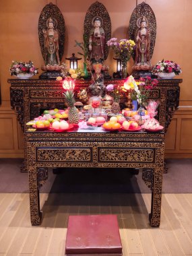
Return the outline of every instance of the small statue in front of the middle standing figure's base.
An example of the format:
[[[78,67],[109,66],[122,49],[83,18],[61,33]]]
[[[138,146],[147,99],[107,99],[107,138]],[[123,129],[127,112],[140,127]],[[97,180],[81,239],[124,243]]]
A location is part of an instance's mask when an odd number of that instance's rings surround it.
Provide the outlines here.
[[[102,64],[94,64],[93,69],[92,84],[89,86],[90,96],[103,98],[106,94],[106,86],[104,85],[104,75],[101,73]]]

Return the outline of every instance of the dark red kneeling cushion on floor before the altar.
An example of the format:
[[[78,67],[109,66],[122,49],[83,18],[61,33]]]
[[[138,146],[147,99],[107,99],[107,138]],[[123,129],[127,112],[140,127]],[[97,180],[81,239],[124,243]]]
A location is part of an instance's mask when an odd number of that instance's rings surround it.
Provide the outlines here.
[[[121,255],[122,245],[117,216],[69,216],[65,253]]]

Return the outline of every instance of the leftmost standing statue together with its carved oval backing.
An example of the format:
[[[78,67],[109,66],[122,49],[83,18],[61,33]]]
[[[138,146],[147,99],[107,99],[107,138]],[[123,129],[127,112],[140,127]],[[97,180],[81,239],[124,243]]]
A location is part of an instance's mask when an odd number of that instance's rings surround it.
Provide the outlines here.
[[[57,5],[49,3],[42,9],[38,38],[44,64],[60,65],[65,44],[65,20]]]

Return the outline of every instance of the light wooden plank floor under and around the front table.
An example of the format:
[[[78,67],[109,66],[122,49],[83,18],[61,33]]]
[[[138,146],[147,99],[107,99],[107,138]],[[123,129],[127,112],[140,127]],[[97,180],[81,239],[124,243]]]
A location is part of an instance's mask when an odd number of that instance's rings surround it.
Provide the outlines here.
[[[192,255],[192,194],[162,195],[160,228],[148,223],[150,194],[40,194],[31,226],[28,194],[0,194],[0,256],[64,255],[69,215],[117,214],[123,256]]]

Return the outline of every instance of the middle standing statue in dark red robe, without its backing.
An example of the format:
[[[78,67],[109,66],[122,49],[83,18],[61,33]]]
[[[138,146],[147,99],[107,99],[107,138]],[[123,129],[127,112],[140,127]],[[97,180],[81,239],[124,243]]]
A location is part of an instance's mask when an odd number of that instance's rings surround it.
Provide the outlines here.
[[[94,28],[90,31],[89,36],[89,51],[91,52],[90,59],[92,65],[94,63],[103,63],[104,60],[104,29],[102,26],[102,19],[95,17],[92,21]]]

